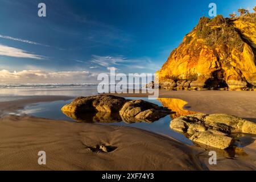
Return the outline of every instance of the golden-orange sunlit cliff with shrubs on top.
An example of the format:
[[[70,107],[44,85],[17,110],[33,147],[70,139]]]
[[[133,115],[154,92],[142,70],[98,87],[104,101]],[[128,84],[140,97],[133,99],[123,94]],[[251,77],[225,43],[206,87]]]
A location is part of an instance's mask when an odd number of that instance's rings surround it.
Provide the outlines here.
[[[158,71],[162,89],[256,88],[256,14],[200,18]]]

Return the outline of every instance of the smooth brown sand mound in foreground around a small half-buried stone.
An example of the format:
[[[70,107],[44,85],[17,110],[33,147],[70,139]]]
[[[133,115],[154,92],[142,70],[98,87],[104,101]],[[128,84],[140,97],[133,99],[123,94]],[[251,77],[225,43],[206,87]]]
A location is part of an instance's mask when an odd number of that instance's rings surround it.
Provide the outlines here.
[[[191,148],[144,130],[9,115],[0,119],[1,170],[201,170]],[[99,144],[117,147],[93,152]],[[46,165],[38,152],[46,152]]]

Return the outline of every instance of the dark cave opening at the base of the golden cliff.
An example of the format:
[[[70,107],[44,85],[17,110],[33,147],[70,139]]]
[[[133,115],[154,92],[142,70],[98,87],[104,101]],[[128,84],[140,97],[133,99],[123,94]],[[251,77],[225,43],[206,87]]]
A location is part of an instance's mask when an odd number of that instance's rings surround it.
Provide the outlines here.
[[[204,88],[210,89],[210,90],[216,90],[221,88],[228,88],[228,84],[226,84],[225,78],[225,71],[223,69],[218,69],[214,72],[212,72],[212,77],[208,78],[207,81],[205,81]]]

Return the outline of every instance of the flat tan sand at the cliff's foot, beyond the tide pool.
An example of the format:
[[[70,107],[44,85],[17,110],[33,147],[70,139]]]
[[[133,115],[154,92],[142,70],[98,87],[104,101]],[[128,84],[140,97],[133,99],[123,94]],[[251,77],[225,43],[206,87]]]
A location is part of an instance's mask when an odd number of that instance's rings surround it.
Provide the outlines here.
[[[147,97],[148,94],[116,94],[123,97]],[[232,114],[256,122],[256,92],[238,91],[168,91],[159,97],[179,98],[188,102],[184,109],[205,114]]]

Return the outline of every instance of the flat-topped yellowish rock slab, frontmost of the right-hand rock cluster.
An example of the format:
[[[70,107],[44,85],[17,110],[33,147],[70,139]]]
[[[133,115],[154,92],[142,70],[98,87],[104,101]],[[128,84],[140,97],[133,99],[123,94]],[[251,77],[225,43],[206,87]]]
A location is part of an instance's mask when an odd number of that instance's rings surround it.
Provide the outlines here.
[[[197,132],[192,135],[191,139],[193,142],[203,143],[208,146],[226,149],[233,144],[232,137],[226,137],[223,135],[216,135],[209,131]]]

